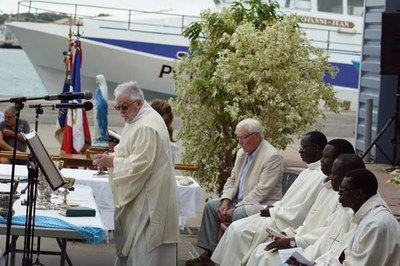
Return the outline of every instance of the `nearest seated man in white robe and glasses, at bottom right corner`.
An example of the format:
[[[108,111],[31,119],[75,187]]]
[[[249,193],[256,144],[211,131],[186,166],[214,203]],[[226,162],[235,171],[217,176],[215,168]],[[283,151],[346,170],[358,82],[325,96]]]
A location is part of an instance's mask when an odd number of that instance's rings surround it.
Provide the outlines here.
[[[316,265],[400,265],[400,226],[377,193],[375,175],[366,169],[346,174],[339,188],[343,207],[353,209],[354,234],[340,255],[328,252]]]

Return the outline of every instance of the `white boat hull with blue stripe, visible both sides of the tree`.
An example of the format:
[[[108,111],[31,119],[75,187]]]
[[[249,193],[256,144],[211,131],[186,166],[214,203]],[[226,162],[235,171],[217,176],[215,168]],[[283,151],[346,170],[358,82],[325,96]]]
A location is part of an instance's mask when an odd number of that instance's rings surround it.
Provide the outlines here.
[[[339,69],[335,79],[326,76],[324,81],[334,85],[339,99],[351,102],[350,110],[357,110],[359,71],[355,62],[360,61],[362,17],[325,14],[319,21],[310,14],[299,12],[318,23],[305,22],[301,26],[312,45],[329,51],[331,64]],[[125,22],[112,17],[83,19],[81,90],[94,93],[95,77],[102,74],[110,88],[110,99],[117,84],[130,80],[139,82],[149,100],[175,96],[172,67],[179,54],[188,50],[182,26],[195,19],[160,13],[129,15]],[[48,93],[60,93],[65,79],[62,49],[67,49],[69,25],[11,22],[7,26],[20,41]]]

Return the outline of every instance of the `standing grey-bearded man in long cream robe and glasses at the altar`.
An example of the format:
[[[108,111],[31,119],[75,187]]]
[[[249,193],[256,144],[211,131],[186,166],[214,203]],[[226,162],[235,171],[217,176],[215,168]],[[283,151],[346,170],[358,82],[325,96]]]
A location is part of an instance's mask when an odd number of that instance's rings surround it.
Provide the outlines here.
[[[178,194],[166,125],[136,82],[120,84],[114,94],[126,124],[115,153],[94,159],[110,171],[115,265],[175,265]]]

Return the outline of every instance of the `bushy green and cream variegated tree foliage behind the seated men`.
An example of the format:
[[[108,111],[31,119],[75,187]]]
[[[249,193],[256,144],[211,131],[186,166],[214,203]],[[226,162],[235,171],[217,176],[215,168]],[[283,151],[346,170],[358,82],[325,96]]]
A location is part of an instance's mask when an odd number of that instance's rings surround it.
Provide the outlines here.
[[[230,175],[240,120],[260,120],[266,139],[283,149],[323,116],[321,100],[338,111],[331,85],[323,83],[335,69],[298,22],[279,14],[276,2],[253,0],[247,8],[205,11],[185,31],[190,56],[175,66],[179,96],[172,104],[182,119],[182,159],[199,167],[195,177],[207,190],[220,192]]]

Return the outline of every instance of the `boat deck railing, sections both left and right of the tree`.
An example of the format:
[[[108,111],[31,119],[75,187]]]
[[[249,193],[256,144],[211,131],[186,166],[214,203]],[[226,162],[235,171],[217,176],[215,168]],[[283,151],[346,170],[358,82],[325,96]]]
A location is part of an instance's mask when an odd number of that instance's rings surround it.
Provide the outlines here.
[[[48,13],[48,20],[40,16],[40,13]],[[54,16],[52,17],[51,14]],[[154,12],[27,0],[18,2],[18,15],[14,17],[14,20],[45,23],[54,22],[55,16],[65,20],[55,23],[76,24],[79,22],[83,26],[85,23],[96,23],[96,26],[100,28],[172,35],[181,35],[187,26],[199,20],[197,16],[172,14],[168,10]],[[53,21],[50,21],[51,19]],[[301,28],[315,47],[344,54],[359,55],[361,53],[362,33],[360,32],[343,32],[307,27],[307,25],[302,25]]]

